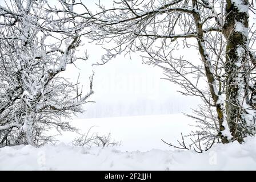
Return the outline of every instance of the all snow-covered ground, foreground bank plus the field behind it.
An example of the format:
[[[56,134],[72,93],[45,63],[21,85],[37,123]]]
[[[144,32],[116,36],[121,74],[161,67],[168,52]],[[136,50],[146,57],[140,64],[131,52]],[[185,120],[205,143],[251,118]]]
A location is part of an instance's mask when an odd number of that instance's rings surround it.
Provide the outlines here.
[[[0,148],[0,170],[255,170],[256,138],[245,144],[217,144],[210,151],[175,150],[161,142],[179,139],[193,124],[182,114],[139,117],[77,119],[73,125],[86,133],[105,134],[122,140],[122,146],[72,146],[77,134],[66,132],[60,143],[41,148],[15,146]]]

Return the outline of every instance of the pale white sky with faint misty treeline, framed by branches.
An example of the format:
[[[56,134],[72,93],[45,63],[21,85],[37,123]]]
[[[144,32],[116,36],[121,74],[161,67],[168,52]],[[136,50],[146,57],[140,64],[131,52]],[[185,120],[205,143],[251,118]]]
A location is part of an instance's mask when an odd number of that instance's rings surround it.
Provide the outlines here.
[[[5,6],[8,1],[0,0],[0,5]],[[94,9],[98,0],[83,2]],[[109,7],[112,6],[111,2],[113,1],[101,1]],[[80,73],[80,81],[86,91],[89,88],[89,76],[92,71],[95,72],[95,93],[90,100],[96,103],[85,105],[86,113],[79,115],[79,118],[181,113],[189,112],[190,107],[197,105],[198,98],[181,96],[177,92],[177,85],[160,80],[164,77],[162,69],[143,65],[139,53],[133,55],[131,60],[129,56],[119,55],[105,65],[92,67],[91,64],[100,61],[105,51],[87,40],[83,43],[85,46],[79,49],[81,52],[87,50],[89,60],[75,63],[79,69],[69,65],[64,73],[65,77],[74,82]],[[186,50],[186,55],[191,57],[193,51]]]

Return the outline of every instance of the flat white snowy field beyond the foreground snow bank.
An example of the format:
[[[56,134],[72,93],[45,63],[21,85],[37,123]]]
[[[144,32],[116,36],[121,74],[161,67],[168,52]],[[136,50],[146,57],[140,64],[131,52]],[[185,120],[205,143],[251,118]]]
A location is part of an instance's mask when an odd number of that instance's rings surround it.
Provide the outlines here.
[[[170,147],[161,141],[177,142],[181,132],[188,134],[194,121],[183,114],[144,115],[133,117],[111,117],[74,119],[71,125],[79,129],[79,133],[86,134],[91,126],[90,134],[106,135],[111,133],[111,138],[121,141],[122,151],[147,151],[151,149],[169,150]],[[57,139],[65,144],[71,144],[78,135],[65,132]]]

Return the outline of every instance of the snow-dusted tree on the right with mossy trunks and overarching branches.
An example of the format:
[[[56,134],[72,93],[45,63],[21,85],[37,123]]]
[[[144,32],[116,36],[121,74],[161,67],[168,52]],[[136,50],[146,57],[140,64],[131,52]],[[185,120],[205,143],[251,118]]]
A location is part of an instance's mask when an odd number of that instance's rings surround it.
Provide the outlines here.
[[[99,64],[122,52],[143,52],[143,61],[163,68],[182,94],[202,98],[205,106],[193,117],[205,124],[204,131],[213,127],[217,134],[212,140],[241,143],[255,134],[254,3],[119,0],[106,9],[99,1],[96,13],[85,8],[74,15],[94,20],[91,39],[115,42]],[[187,48],[198,52],[199,61],[177,51]]]

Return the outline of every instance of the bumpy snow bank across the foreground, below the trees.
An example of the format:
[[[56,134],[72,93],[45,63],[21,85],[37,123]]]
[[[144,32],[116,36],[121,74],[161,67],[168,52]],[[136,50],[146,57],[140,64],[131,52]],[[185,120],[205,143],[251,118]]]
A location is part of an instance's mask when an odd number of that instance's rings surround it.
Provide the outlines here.
[[[184,150],[122,152],[114,147],[32,146],[0,149],[1,170],[255,170],[256,138],[217,144],[198,154]]]

